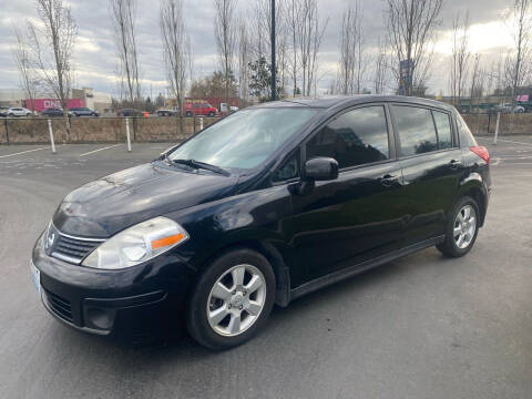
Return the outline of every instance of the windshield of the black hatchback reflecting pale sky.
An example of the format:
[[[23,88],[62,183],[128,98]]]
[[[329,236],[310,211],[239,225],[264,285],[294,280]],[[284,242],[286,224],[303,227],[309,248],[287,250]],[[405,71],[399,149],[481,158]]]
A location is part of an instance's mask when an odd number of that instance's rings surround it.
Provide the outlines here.
[[[170,158],[253,168],[316,113],[316,110],[299,108],[238,111],[188,140],[171,153]]]

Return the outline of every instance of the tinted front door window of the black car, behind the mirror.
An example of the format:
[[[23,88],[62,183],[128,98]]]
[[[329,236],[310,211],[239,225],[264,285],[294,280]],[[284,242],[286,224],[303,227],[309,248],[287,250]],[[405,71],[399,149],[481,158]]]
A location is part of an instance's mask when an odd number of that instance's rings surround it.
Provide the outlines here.
[[[367,106],[335,119],[307,143],[307,160],[316,156],[334,157],[340,168],[387,160],[383,106]]]

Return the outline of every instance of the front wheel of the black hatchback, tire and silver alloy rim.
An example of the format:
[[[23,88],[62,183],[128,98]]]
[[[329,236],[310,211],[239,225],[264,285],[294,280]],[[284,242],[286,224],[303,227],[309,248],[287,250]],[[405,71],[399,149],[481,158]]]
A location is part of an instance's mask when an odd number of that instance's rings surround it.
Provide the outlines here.
[[[235,284],[234,276],[242,284]],[[275,274],[268,260],[247,248],[227,252],[195,284],[187,301],[187,330],[208,349],[236,347],[263,329],[274,299]]]

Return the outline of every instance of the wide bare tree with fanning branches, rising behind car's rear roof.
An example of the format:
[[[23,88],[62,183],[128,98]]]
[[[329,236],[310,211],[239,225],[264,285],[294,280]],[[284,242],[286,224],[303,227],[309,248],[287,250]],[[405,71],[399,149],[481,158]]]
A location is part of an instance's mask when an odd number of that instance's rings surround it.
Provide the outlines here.
[[[443,0],[386,0],[388,37],[397,59],[393,68],[405,95],[421,88],[428,76],[434,28]],[[401,76],[400,63],[403,63]],[[406,70],[406,71],[405,71]]]

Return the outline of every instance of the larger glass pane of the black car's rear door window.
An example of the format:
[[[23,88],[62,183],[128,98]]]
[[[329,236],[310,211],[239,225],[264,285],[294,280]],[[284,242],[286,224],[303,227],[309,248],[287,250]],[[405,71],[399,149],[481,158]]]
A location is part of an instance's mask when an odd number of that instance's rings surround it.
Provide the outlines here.
[[[434,123],[429,110],[393,105],[401,154],[415,155],[438,150]]]

